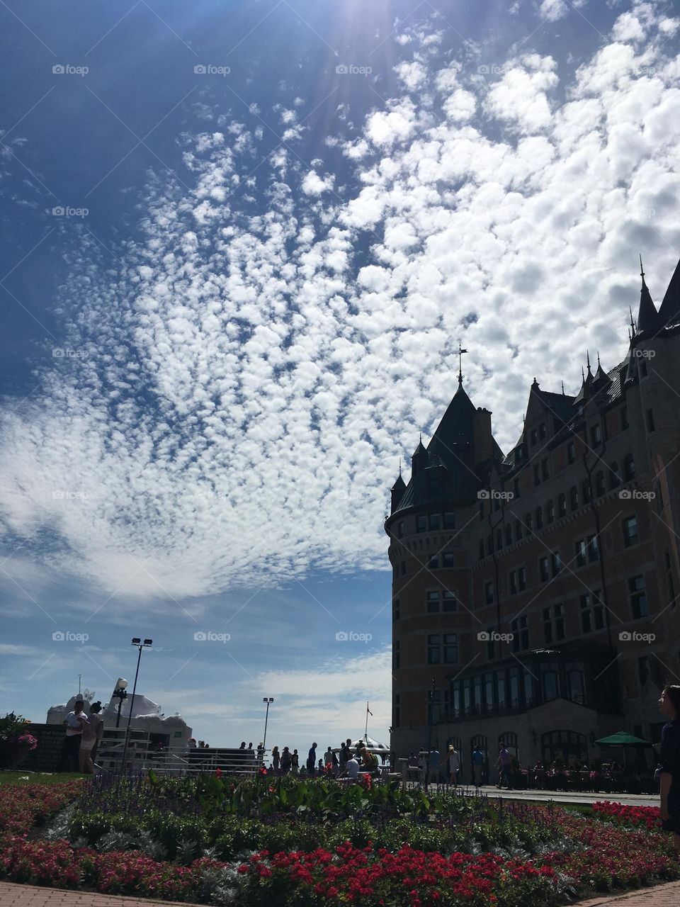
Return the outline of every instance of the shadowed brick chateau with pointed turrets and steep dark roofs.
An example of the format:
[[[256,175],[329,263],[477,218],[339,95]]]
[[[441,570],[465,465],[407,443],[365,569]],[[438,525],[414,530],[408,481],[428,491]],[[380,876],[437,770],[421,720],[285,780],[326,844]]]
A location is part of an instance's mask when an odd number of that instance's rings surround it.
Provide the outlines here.
[[[394,483],[397,756],[453,743],[469,780],[475,746],[532,766],[589,763],[622,729],[658,741],[680,676],[680,263],[658,310],[643,274],[631,328],[578,395],[534,379],[505,456],[459,371]]]

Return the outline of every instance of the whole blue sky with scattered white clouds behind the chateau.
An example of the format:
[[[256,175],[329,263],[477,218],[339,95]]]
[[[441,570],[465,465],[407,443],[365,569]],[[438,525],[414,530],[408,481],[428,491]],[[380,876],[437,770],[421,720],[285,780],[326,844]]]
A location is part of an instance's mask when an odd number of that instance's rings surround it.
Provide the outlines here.
[[[0,714],[391,722],[389,488],[680,257],[677,0],[2,0]]]

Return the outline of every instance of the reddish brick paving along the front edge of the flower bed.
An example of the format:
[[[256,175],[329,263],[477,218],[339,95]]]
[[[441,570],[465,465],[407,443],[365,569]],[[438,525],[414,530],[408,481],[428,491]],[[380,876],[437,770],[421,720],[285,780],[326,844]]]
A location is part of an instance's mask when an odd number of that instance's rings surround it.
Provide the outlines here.
[[[606,894],[574,907],[676,907],[680,903],[680,882],[656,885],[628,894]],[[170,901],[147,901],[117,894],[67,892],[61,888],[36,888],[0,882],[0,907],[180,907]],[[199,907],[182,904],[181,907]]]

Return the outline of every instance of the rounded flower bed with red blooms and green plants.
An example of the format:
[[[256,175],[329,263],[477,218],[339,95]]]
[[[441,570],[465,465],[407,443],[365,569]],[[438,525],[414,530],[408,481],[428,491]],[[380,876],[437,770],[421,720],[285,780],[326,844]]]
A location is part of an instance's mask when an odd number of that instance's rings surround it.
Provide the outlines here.
[[[680,874],[649,808],[598,804],[593,819],[327,784],[306,782],[293,803],[292,785],[265,780],[125,781],[109,794],[82,782],[6,785],[0,878],[239,907],[557,907]],[[38,839],[62,807],[52,840]]]

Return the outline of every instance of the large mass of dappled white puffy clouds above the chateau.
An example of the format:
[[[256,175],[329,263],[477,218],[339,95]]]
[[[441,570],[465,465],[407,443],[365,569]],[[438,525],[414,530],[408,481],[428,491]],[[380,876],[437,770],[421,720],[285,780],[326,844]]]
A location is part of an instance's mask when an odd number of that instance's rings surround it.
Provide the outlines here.
[[[245,177],[255,121],[185,137],[194,188],[151,181],[113,277],[93,245],[73,254],[81,355],[5,412],[6,537],[130,595],[384,568],[386,489],[452,395],[459,335],[507,446],[532,375],[572,389],[587,344],[618,361],[638,249],[665,288],[680,62],[664,8],[631,5],[575,73],[539,54],[495,75],[442,65],[432,35],[404,33],[401,93],[355,132],[340,112],[328,141],[352,180],[285,147]]]

